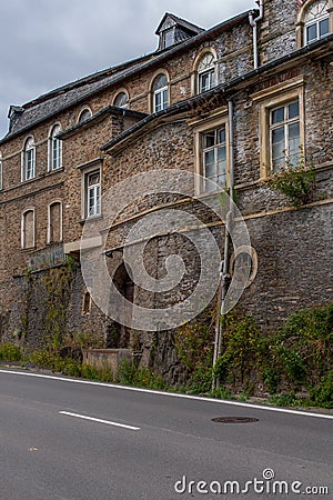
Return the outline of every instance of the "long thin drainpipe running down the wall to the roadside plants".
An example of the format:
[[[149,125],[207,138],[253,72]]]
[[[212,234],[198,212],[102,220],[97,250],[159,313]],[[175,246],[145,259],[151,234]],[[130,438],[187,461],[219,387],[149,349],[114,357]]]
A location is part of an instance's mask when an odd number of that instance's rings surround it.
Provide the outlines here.
[[[221,318],[225,314],[225,297],[229,289],[230,281],[230,226],[233,220],[233,189],[234,189],[234,132],[233,132],[233,102],[228,99],[228,120],[229,120],[229,211],[225,217],[224,227],[224,256],[220,269],[220,287],[218,291],[218,310],[215,323],[215,342],[213,354],[213,367],[215,367],[218,359],[221,356],[222,341],[222,322]],[[219,380],[214,377],[212,388],[219,387]]]

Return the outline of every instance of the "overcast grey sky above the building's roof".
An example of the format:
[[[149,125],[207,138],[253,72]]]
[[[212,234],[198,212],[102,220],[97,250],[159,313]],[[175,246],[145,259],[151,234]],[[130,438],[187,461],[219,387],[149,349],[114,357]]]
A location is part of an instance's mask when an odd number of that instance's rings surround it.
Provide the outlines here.
[[[211,28],[254,0],[1,0],[0,137],[10,104],[157,49],[164,12]]]

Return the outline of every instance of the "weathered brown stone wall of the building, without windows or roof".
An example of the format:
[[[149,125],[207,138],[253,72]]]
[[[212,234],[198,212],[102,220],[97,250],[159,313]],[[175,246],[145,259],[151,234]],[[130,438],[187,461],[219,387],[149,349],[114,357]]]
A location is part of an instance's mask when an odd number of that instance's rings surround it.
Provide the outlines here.
[[[282,6],[283,3],[283,6]],[[274,61],[295,49],[296,0],[264,2],[264,19],[260,23],[260,61]],[[78,166],[100,158],[102,166],[102,191],[114,190],[118,182],[139,172],[161,169],[200,171],[195,159],[195,128],[208,124],[224,104],[223,96],[216,97],[215,109],[192,110],[188,114],[173,116],[155,122],[155,127],[142,129],[141,134],[123,144],[112,156],[101,152],[101,147],[118,133],[134,123],[128,119],[105,114],[89,128],[81,127],[63,141],[63,168],[48,172],[48,137],[51,127],[60,123],[62,129],[72,128],[83,106],[92,113],[101,111],[113,102],[121,89],[129,92],[131,110],[151,111],[151,82],[160,70],[170,78],[170,104],[190,98],[194,92],[194,62],[204,49],[211,47],[218,58],[219,81],[231,80],[245,74],[253,68],[252,32],[246,19],[226,31],[216,31],[210,40],[198,42],[186,51],[175,51],[172,57],[154,64],[143,66],[131,77],[105,87],[82,102],[47,119],[33,127],[36,142],[36,179],[21,183],[21,153],[24,139],[30,131],[22,132],[1,146],[3,159],[3,190],[0,192],[0,337],[12,333],[22,336],[30,347],[39,347],[50,323],[50,300],[54,291],[48,289],[46,279],[57,269],[39,269],[34,274],[24,274],[33,252],[49,251],[48,206],[62,201],[63,242],[77,242],[82,233],[82,171]],[[332,233],[332,140],[333,140],[333,67],[325,61],[309,59],[296,67],[276,67],[271,73],[258,76],[245,89],[230,93],[234,104],[234,173],[238,204],[245,216],[251,241],[259,257],[259,270],[253,283],[245,290],[242,304],[266,328],[275,328],[292,310],[325,303],[332,300],[331,233]],[[317,188],[312,206],[291,209],[290,202],[272,192],[262,183],[260,166],[261,101],[258,92],[280,84],[285,94],[292,79],[303,77],[304,87],[304,138],[306,158],[316,168]],[[284,88],[285,87],[285,88]],[[204,103],[204,98],[202,99]],[[226,108],[224,108],[225,111]],[[221,114],[225,120],[226,114]],[[193,118],[196,122],[193,124]],[[269,173],[269,171],[266,171]],[[176,179],[175,179],[176,183]],[[152,187],[153,189],[154,187]],[[124,239],[140,220],[140,214],[163,203],[178,200],[174,194],[147,196],[134,201],[120,214],[108,238],[108,248],[122,246]],[[36,209],[36,247],[21,249],[21,217],[27,208]],[[195,213],[203,222],[212,224],[212,232],[223,250],[223,226],[206,213],[200,203],[184,201],[176,208]],[[105,214],[104,214],[105,216]],[[161,228],[163,229],[163,228]],[[51,251],[51,250],[50,250]],[[118,254],[121,251],[117,252]],[[193,247],[182,237],[168,236],[154,239],[144,257],[147,270],[152,278],[161,279],[165,273],[165,259],[171,254],[183,258],[186,266],[184,280],[168,293],[152,293],[134,288],[134,302],[143,307],[170,306],[184,300],[195,288],[201,263]],[[118,262],[109,259],[111,274]],[[61,268],[60,268],[61,269]],[[218,270],[216,270],[218,272]],[[48,280],[47,280],[48,281]],[[87,333],[94,343],[111,342],[119,333],[120,343],[127,341],[123,330],[92,303],[87,312],[82,310],[87,283],[80,268],[73,271],[68,283],[62,308],[63,331],[69,336]],[[58,290],[61,293],[61,287]],[[163,329],[163,324],[161,324]],[[113,332],[113,333],[112,333]],[[158,338],[151,332],[140,332],[142,363],[159,368],[169,380],[176,381],[181,369],[172,349],[172,332]],[[117,334],[115,334],[117,337]],[[108,340],[109,339],[109,340]],[[153,346],[153,353],[151,352]],[[123,346],[129,347],[129,346]]]

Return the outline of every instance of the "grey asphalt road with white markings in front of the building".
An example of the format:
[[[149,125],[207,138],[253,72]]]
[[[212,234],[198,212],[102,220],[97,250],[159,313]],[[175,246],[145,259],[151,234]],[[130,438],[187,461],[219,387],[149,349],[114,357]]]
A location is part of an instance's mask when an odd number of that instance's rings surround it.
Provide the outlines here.
[[[0,453],[1,500],[333,498],[333,416],[6,369]]]

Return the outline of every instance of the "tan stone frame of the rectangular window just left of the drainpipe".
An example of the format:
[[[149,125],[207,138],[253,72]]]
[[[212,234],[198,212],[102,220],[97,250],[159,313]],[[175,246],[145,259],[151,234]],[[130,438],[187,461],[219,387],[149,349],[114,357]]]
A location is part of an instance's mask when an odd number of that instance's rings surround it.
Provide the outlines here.
[[[208,196],[214,191],[209,191],[203,186],[204,179],[204,167],[203,167],[203,134],[222,127],[225,127],[225,154],[226,154],[226,183],[225,187],[230,186],[230,132],[229,132],[229,119],[228,109],[224,108],[215,113],[208,120],[200,120],[200,122],[191,123],[193,126],[194,133],[194,172],[198,174],[194,179],[194,192],[195,196]]]

